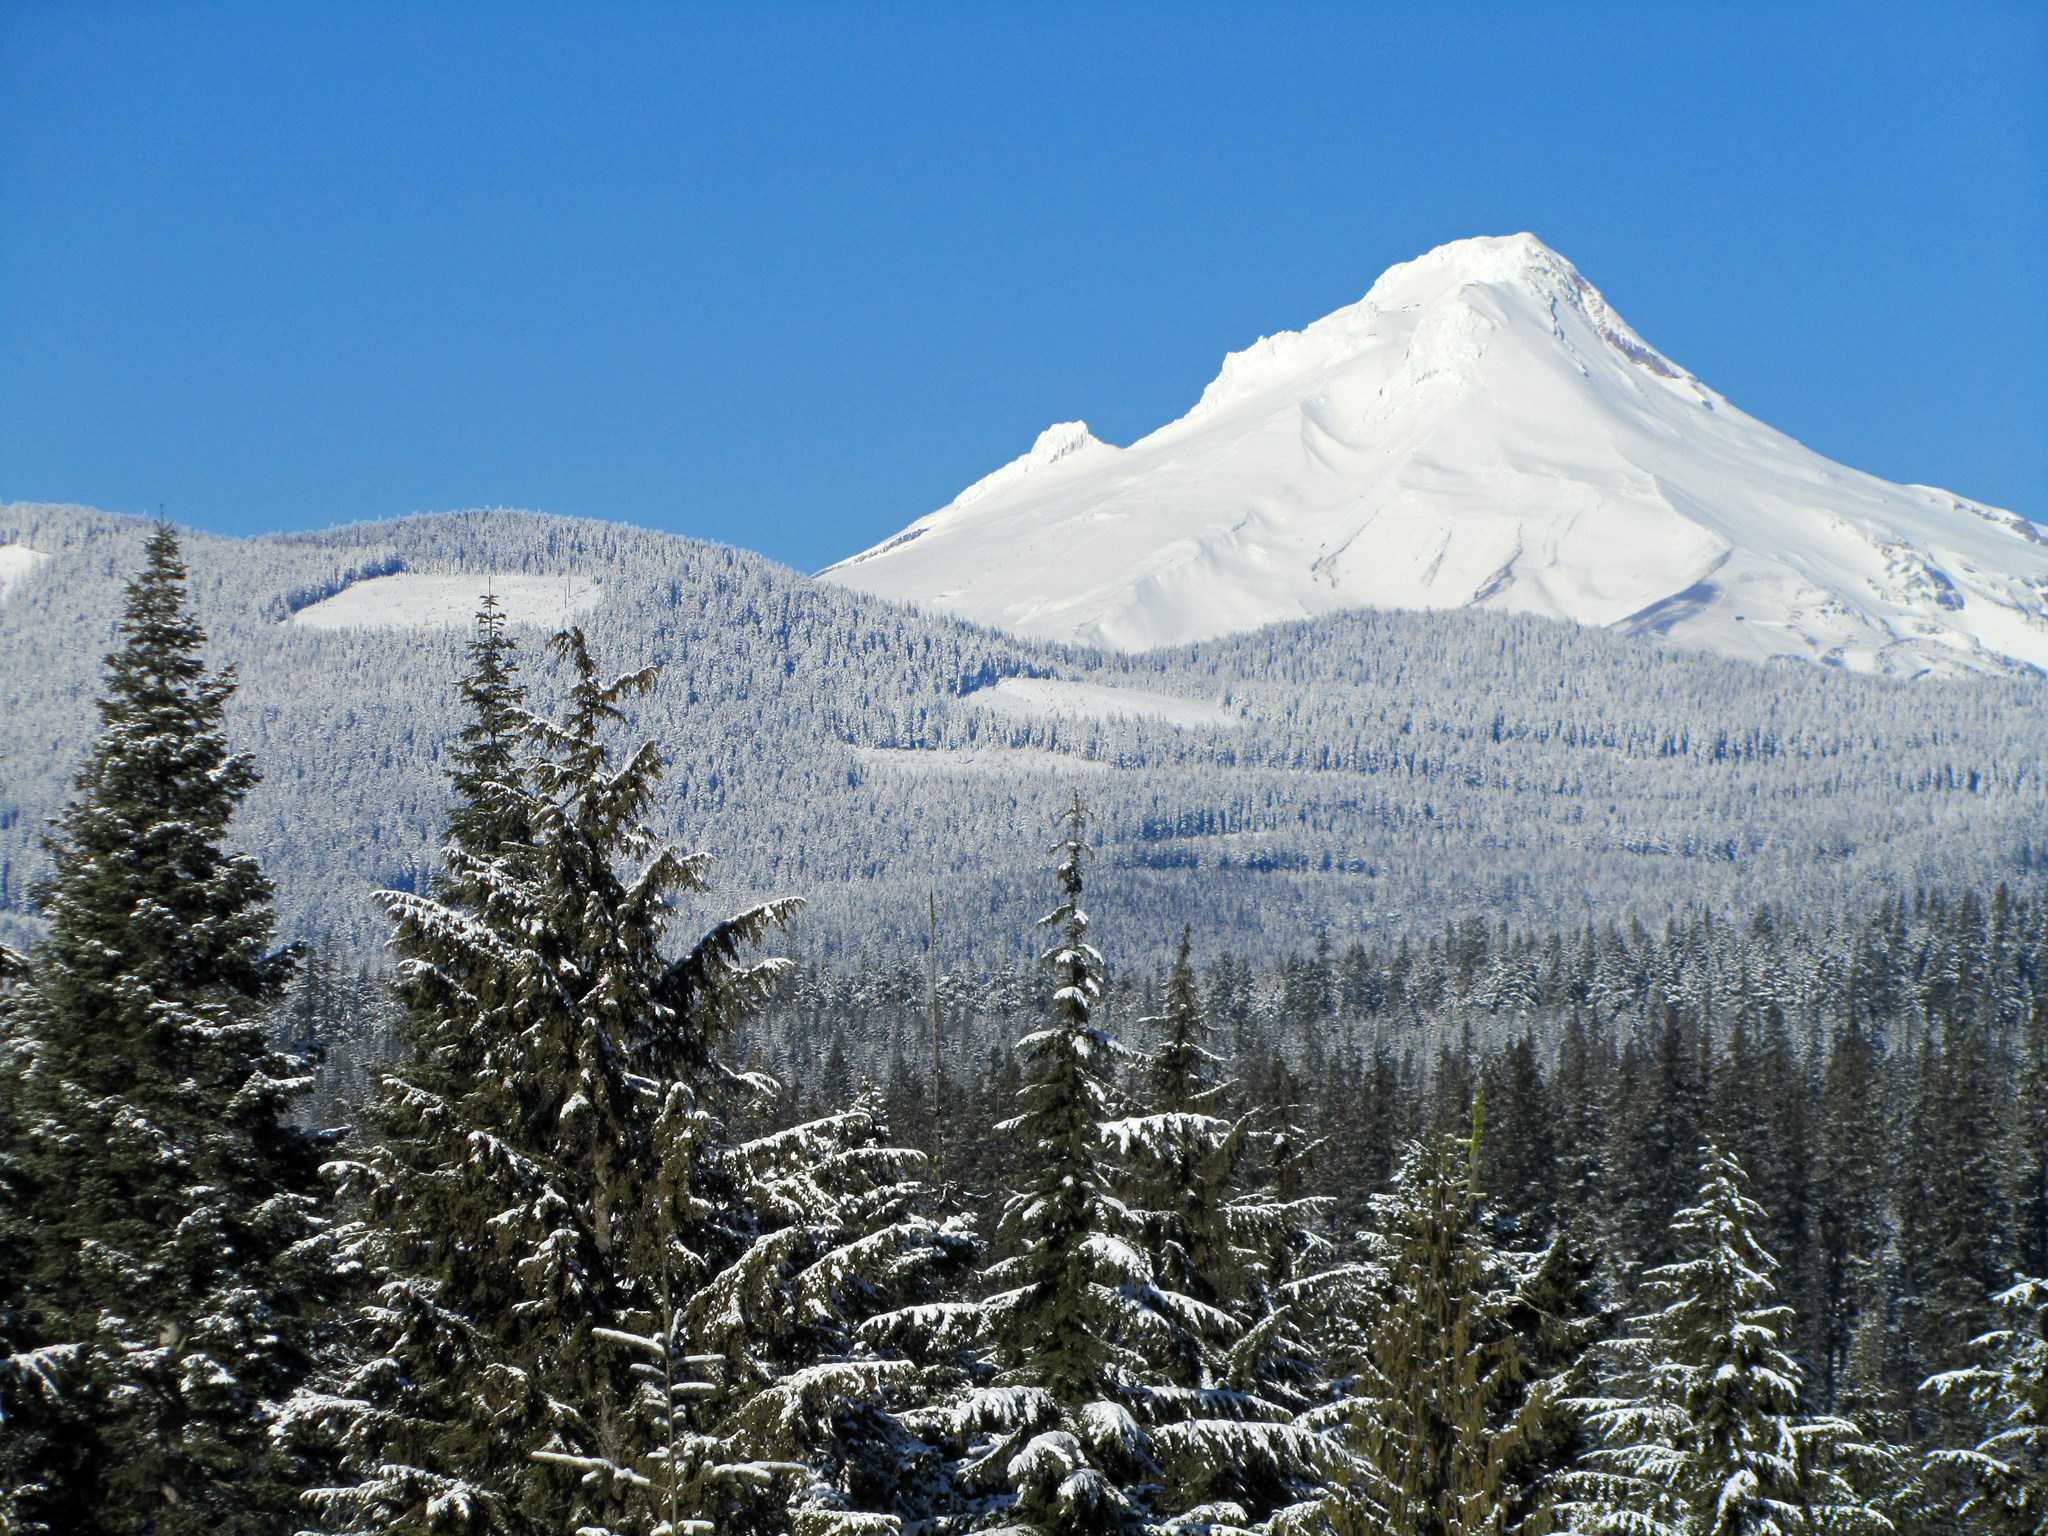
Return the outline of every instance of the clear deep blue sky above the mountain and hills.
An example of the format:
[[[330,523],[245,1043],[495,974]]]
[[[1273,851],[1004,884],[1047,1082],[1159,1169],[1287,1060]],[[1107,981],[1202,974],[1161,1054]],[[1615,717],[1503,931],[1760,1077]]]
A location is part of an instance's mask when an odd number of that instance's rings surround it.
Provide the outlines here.
[[[2044,14],[0,0],[0,500],[815,569],[1532,229],[1765,422],[2048,520]]]

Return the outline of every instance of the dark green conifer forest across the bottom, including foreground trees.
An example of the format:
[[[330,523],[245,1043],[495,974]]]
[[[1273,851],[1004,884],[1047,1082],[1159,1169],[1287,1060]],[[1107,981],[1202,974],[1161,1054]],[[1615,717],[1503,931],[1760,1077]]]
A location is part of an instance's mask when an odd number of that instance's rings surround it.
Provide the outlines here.
[[[438,862],[285,942],[168,524],[129,575],[0,948],[0,1530],[2048,1532],[2038,885],[1378,938],[1161,860],[1163,926],[1073,774],[1036,926],[961,848],[784,958],[657,668],[485,600]]]

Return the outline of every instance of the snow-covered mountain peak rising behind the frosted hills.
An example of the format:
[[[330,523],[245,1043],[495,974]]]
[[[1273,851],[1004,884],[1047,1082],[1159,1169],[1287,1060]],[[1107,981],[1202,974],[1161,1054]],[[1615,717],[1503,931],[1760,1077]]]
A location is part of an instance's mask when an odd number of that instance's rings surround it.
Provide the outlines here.
[[[1128,449],[1055,426],[821,575],[1124,651],[1477,606],[1858,672],[2048,670],[2034,524],[1745,416],[1526,233],[1233,352]]]

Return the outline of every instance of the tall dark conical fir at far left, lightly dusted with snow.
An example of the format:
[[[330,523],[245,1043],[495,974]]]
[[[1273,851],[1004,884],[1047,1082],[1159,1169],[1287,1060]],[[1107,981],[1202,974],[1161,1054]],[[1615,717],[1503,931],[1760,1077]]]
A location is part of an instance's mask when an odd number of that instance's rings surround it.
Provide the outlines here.
[[[322,1346],[332,1284],[307,1081],[266,1016],[270,885],[225,836],[256,782],[221,717],[160,524],[106,657],[100,737],[49,840],[47,938],[6,1001],[20,1075],[8,1233],[12,1520],[66,1532],[283,1530],[299,1468],[270,1419]],[[12,965],[12,963],[10,963]],[[61,1417],[41,1417],[61,1389]],[[27,1411],[27,1413],[25,1413]],[[20,1442],[14,1442],[16,1448]]]

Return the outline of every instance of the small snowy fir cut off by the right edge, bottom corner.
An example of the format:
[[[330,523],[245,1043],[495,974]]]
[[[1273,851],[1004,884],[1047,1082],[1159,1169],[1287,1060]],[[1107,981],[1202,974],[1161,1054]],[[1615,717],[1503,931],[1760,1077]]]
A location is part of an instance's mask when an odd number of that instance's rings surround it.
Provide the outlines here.
[[[1968,1401],[1982,1440],[1968,1450],[1935,1450],[1929,1460],[1964,1479],[1956,1509],[1966,1530],[1991,1536],[2048,1532],[2048,1282],[2021,1280],[1993,1300],[2005,1327],[1974,1339],[1987,1360],[1933,1376],[1929,1391]]]

